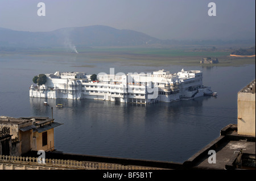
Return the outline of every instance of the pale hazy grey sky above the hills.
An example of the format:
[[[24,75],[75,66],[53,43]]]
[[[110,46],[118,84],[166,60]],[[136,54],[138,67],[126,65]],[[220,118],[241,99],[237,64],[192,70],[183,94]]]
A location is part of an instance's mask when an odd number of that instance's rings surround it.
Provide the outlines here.
[[[38,16],[39,2],[46,16]],[[216,16],[209,16],[209,2]],[[0,0],[0,27],[53,31],[105,25],[159,39],[255,37],[255,0]]]

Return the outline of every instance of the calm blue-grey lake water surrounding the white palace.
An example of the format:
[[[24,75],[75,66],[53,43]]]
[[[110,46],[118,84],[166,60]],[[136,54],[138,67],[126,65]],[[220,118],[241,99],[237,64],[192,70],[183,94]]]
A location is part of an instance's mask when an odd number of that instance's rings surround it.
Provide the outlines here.
[[[65,153],[183,163],[237,123],[237,92],[255,78],[255,65],[239,67],[142,66],[128,61],[92,61],[81,55],[0,54],[0,115],[51,117],[46,99],[30,98],[32,78],[55,71],[152,73],[165,69],[203,71],[203,85],[218,92],[174,103],[123,104],[102,100],[48,99],[53,107],[55,149]],[[64,104],[63,109],[55,104]]]

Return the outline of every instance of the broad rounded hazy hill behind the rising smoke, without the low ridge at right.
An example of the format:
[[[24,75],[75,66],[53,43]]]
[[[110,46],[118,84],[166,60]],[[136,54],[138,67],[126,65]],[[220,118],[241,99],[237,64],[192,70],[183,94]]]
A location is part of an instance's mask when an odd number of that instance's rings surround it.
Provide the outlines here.
[[[161,40],[141,32],[108,26],[61,28],[51,32],[0,28],[0,47],[130,46],[160,43]]]

